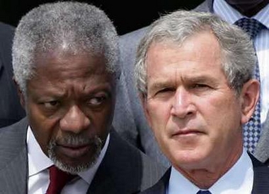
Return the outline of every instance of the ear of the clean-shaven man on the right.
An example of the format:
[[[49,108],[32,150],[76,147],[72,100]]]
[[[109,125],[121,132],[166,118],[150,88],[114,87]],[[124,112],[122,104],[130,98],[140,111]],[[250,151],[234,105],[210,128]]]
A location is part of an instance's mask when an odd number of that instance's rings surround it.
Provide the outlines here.
[[[248,122],[255,111],[256,104],[260,96],[260,83],[251,79],[246,82],[241,91],[241,123]]]

